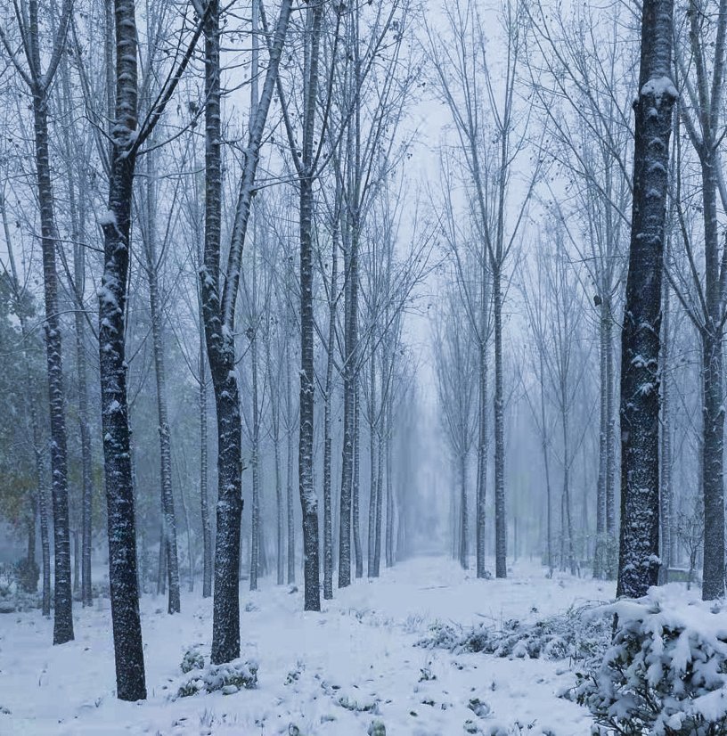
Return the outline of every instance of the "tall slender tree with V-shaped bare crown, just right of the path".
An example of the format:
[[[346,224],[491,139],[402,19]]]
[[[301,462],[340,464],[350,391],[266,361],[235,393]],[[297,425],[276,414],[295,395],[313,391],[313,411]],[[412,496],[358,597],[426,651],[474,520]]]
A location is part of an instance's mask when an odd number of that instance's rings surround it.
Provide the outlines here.
[[[515,106],[519,64],[523,52],[523,13],[519,2],[501,7],[505,54],[502,86],[494,82],[491,55],[478,9],[471,0],[447,7],[450,37],[429,29],[429,53],[434,61],[437,94],[447,105],[464,164],[471,176],[478,235],[486,251],[492,279],[494,323],[494,524],[495,575],[507,577],[505,508],[504,369],[502,307],[507,290],[506,268],[518,241],[537,176],[514,203],[511,196],[513,163],[524,150],[527,127]],[[488,135],[486,122],[495,135]],[[513,214],[511,214],[513,213]],[[482,441],[480,440],[480,444]]]

